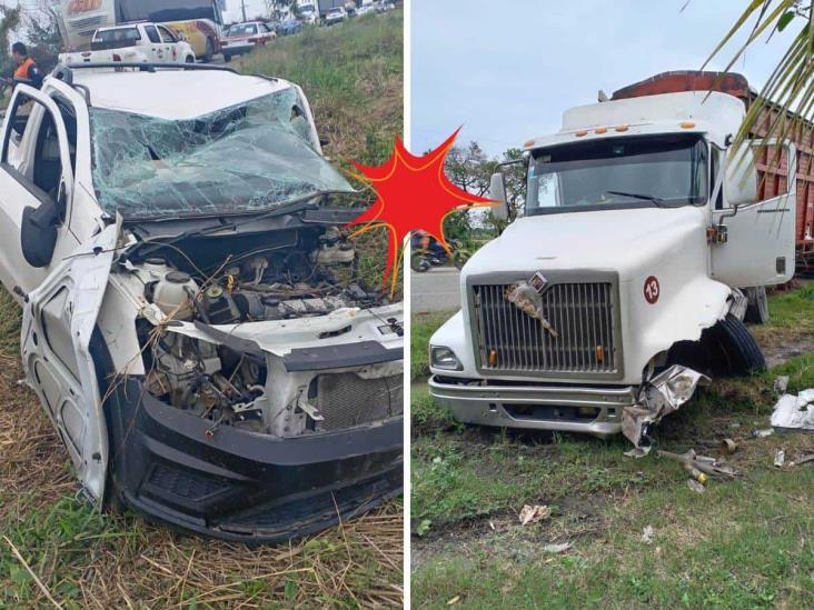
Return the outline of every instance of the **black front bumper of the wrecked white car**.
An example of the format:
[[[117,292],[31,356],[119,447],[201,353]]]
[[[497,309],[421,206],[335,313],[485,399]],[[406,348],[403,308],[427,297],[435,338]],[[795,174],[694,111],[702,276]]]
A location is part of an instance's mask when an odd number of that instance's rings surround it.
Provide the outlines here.
[[[169,407],[137,379],[106,401],[112,488],[138,512],[206,536],[276,543],[401,492],[403,420],[278,439]]]

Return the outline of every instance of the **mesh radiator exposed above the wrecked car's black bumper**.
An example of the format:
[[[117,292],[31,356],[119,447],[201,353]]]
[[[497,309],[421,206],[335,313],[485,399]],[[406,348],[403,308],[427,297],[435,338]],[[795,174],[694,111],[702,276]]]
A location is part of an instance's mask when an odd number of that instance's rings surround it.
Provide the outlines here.
[[[363,379],[356,373],[320,374],[317,408],[325,420],[318,431],[344,430],[404,412],[401,376]]]

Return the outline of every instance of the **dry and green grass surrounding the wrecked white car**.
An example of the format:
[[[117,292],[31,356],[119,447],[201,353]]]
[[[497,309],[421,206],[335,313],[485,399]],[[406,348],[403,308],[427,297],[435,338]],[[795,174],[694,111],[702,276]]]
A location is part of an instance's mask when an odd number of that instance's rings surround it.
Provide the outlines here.
[[[235,63],[300,83],[337,160],[380,161],[401,132],[400,11],[307,31]],[[0,608],[48,607],[42,588],[66,608],[400,606],[400,501],[259,549],[91,509],[36,397],[18,383],[19,334],[19,309],[2,292]]]

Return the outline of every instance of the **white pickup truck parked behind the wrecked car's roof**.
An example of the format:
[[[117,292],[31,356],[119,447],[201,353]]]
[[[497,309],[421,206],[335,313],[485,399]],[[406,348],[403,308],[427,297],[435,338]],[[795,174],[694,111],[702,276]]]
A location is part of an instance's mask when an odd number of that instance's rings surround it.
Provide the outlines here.
[[[157,23],[99,28],[89,51],[62,53],[60,63],[195,63],[192,47],[178,33]]]

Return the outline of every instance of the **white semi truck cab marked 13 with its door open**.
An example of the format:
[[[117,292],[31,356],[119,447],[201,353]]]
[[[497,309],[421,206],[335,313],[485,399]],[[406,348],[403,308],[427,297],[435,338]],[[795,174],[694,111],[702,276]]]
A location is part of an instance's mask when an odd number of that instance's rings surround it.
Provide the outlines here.
[[[525,214],[464,267],[463,311],[430,339],[430,392],[458,420],[644,449],[707,374],[765,367],[743,318],[794,273],[795,147],[763,197],[756,142],[731,150],[744,88],[662,74],[525,143]]]

